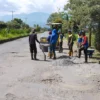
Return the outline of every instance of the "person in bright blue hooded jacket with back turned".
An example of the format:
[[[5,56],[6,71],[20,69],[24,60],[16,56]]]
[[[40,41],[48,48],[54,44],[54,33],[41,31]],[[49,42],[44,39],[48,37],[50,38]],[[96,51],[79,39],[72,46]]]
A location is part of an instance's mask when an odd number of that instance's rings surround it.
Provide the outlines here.
[[[58,40],[58,33],[57,33],[57,29],[54,28],[52,30],[52,35],[51,35],[51,39],[50,39],[50,58],[52,57],[52,52],[53,52],[53,59],[56,59],[56,53],[55,53],[55,49],[56,49],[56,43]]]

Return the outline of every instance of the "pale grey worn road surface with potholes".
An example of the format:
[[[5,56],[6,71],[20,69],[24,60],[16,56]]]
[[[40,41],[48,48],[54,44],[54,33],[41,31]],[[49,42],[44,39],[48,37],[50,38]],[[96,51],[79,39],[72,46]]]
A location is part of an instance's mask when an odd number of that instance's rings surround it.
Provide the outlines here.
[[[0,45],[0,100],[100,100],[100,65],[66,52],[32,61],[28,38]]]

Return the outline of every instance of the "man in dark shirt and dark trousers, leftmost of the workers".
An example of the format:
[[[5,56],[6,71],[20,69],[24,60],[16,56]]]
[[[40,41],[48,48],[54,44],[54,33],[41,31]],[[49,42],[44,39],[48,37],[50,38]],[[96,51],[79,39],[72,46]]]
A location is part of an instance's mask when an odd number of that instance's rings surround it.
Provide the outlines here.
[[[37,47],[36,47],[36,41],[40,43],[37,39],[37,34],[35,33],[35,29],[32,30],[32,34],[29,35],[29,45],[30,45],[30,53],[31,53],[31,59],[33,60],[33,52],[34,52],[34,60],[37,60]]]

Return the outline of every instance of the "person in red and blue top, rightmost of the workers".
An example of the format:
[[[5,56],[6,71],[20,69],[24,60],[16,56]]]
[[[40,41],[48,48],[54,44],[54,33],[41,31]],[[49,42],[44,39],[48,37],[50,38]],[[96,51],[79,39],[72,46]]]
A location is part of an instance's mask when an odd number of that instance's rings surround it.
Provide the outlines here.
[[[87,63],[88,60],[87,49],[88,49],[88,38],[85,35],[85,32],[82,32],[82,44],[81,44],[81,48],[79,49],[79,58],[81,57],[81,51],[84,50],[85,63]]]

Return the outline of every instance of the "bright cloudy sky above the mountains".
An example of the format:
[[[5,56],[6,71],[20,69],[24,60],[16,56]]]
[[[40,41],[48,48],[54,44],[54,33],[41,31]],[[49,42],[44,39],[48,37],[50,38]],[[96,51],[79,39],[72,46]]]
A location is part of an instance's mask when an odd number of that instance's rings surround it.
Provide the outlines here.
[[[0,0],[0,15],[46,12],[52,13],[63,9],[67,0]]]

